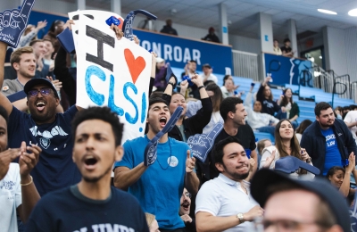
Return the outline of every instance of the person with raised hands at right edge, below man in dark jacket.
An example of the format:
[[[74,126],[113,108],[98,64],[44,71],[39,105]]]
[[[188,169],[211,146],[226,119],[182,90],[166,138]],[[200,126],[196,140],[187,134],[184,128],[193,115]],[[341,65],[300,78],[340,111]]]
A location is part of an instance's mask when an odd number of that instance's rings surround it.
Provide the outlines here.
[[[326,178],[331,182],[333,186],[341,192],[342,195],[347,197],[348,195],[355,194],[356,190],[350,187],[351,174],[353,174],[354,179],[357,179],[357,170],[355,167],[355,156],[350,154],[348,159],[349,164],[345,167],[334,166],[328,170]]]

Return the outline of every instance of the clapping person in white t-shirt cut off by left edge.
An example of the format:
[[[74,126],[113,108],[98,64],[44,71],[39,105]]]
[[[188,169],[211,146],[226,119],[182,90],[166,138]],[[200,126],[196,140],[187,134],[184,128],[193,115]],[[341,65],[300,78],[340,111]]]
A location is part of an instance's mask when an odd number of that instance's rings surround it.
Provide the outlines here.
[[[17,232],[17,213],[26,222],[40,198],[29,172],[36,166],[41,148],[22,142],[20,148],[6,149],[7,120],[7,112],[0,106],[0,231]],[[19,163],[12,162],[16,158]]]

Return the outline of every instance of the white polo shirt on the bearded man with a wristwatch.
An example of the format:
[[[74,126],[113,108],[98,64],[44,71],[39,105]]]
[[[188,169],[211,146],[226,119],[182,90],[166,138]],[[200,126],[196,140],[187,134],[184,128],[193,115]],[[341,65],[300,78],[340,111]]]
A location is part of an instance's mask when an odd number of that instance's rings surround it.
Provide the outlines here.
[[[258,205],[250,194],[249,182],[242,182],[248,191],[248,195],[242,189],[242,185],[220,173],[218,178],[213,178],[203,184],[195,199],[195,213],[205,211],[215,217],[229,217],[242,212],[250,211]],[[234,228],[224,230],[226,232],[254,231],[253,222],[245,221]]]

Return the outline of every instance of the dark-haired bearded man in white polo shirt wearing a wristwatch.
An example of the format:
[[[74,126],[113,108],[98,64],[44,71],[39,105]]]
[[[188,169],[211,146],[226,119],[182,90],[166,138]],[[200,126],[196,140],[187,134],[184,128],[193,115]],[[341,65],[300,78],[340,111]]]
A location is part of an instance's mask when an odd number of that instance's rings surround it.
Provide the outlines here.
[[[198,231],[253,231],[254,218],[263,210],[250,195],[250,165],[237,137],[214,145],[212,153],[218,178],[203,184],[196,198],[195,223]]]

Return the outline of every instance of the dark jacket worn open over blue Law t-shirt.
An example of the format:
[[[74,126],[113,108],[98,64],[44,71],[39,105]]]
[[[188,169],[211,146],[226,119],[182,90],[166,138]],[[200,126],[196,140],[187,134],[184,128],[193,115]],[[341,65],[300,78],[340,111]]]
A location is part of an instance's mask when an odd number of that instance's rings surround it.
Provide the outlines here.
[[[351,131],[345,125],[345,122],[336,119],[331,128],[336,136],[341,159],[348,159],[351,152],[357,154],[356,142],[353,139]],[[306,152],[311,157],[313,166],[320,169],[320,175],[322,175],[326,156],[326,137],[321,133],[319,121],[315,120],[305,129],[300,146],[306,149]]]

